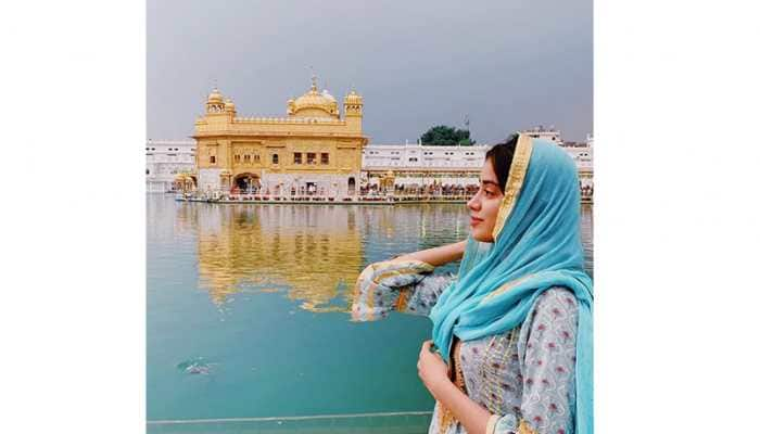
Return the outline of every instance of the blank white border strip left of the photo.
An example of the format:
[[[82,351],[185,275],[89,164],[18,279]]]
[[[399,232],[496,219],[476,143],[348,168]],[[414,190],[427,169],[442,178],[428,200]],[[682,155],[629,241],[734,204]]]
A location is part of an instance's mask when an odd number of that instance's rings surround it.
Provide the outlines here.
[[[145,429],[144,10],[3,4],[4,433]]]

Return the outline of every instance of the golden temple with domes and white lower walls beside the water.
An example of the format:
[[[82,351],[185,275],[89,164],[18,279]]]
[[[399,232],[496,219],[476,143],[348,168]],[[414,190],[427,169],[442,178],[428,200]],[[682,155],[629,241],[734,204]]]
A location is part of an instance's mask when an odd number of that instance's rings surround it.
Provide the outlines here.
[[[311,89],[287,103],[284,117],[240,117],[231,99],[214,89],[195,120],[197,188],[256,188],[265,194],[353,195],[362,173],[363,98],[338,101]],[[267,193],[268,192],[268,193]]]

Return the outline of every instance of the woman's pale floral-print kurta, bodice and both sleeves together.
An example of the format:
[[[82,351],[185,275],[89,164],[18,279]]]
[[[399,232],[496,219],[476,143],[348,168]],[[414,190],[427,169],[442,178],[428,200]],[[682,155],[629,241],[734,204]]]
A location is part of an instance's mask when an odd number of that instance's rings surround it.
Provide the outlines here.
[[[454,280],[419,261],[370,265],[357,280],[353,317],[376,320],[392,310],[428,315]],[[521,327],[457,342],[466,393],[501,417],[496,433],[573,432],[577,328],[574,295],[553,288],[537,297]],[[429,433],[466,433],[460,423],[442,426],[441,414],[436,404]]]

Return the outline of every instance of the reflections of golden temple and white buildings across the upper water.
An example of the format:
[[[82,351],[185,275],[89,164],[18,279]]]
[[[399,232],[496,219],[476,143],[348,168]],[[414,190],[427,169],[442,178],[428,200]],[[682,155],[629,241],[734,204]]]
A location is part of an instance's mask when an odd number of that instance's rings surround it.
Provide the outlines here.
[[[592,208],[583,207],[592,272]],[[463,240],[464,205],[177,204],[175,233],[194,232],[199,288],[216,305],[236,293],[282,291],[312,311],[344,311],[369,263]],[[456,271],[457,264],[446,268]]]

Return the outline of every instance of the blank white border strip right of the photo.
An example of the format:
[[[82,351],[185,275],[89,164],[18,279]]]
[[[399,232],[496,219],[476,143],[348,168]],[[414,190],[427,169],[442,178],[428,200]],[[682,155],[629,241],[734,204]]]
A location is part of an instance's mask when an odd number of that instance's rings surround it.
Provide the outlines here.
[[[596,1],[598,433],[756,430],[760,26],[748,4]]]

